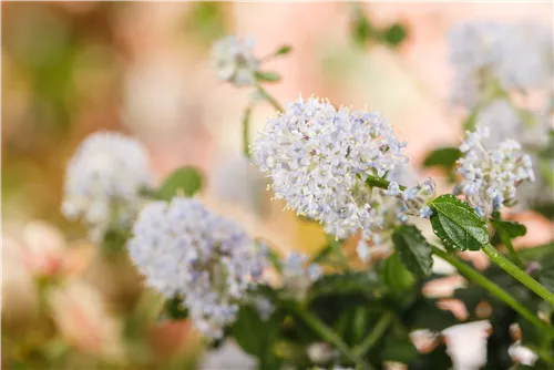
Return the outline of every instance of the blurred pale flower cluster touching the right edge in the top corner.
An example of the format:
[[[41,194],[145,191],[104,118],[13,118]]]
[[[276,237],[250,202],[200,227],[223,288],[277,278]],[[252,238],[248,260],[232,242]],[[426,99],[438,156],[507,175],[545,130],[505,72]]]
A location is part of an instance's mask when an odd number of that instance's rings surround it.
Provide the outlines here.
[[[465,22],[450,34],[453,100],[468,109],[497,90],[552,89],[552,30],[535,22]],[[492,96],[491,96],[492,95]]]

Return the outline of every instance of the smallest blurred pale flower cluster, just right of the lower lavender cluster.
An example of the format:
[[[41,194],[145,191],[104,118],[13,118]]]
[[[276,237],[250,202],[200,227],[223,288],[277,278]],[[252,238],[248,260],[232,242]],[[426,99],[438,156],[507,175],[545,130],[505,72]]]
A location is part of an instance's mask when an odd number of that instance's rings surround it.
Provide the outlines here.
[[[302,299],[312,282],[324,271],[318,264],[307,265],[308,256],[291,251],[281,263],[283,288],[286,294]]]

